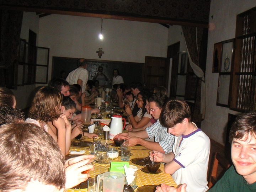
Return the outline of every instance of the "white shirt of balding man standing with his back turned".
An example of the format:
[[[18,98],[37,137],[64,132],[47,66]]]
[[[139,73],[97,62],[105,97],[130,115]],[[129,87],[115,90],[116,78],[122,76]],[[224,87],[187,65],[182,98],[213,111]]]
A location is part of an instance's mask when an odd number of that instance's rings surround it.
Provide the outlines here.
[[[71,71],[66,78],[66,81],[69,82],[70,85],[77,84],[78,79],[82,80],[82,93],[85,92],[85,87],[88,80],[88,71],[84,68],[76,68]]]

